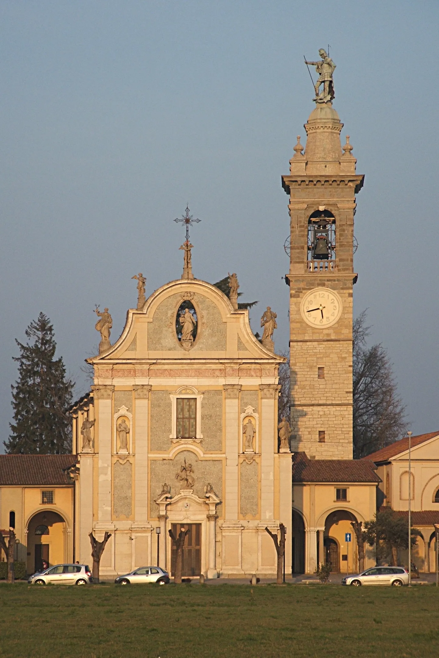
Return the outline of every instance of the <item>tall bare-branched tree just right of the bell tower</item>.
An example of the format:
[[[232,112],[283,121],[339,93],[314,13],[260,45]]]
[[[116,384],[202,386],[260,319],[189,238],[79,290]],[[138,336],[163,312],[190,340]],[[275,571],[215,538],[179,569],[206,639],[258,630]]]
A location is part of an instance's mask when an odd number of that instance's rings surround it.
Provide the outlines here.
[[[366,311],[353,322],[353,457],[361,459],[405,434],[405,407],[386,349],[367,347]]]

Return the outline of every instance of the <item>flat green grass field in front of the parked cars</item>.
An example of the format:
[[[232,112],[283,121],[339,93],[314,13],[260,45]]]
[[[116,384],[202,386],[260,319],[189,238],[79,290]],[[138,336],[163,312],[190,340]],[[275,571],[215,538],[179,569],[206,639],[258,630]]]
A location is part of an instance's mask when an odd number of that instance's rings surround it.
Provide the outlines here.
[[[439,591],[0,584],[1,658],[439,656]]]

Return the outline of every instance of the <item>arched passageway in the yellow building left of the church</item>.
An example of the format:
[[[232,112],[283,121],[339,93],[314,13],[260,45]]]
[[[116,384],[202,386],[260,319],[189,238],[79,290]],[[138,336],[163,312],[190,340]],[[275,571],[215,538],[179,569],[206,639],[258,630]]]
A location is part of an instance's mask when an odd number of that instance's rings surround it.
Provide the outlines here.
[[[57,512],[43,510],[28,522],[28,573],[39,571],[43,561],[56,565],[66,561],[66,522]]]

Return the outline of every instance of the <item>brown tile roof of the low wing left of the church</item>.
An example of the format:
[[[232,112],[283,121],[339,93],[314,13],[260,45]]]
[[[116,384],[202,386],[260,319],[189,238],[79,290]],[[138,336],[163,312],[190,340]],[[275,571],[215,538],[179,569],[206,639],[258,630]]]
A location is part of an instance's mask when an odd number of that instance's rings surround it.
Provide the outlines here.
[[[70,484],[63,470],[76,462],[76,455],[0,455],[0,486]]]

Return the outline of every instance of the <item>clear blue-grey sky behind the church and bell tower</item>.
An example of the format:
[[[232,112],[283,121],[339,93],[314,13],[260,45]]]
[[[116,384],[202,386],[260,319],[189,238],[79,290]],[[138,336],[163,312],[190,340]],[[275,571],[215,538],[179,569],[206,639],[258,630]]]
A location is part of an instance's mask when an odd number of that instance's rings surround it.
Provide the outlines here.
[[[280,185],[313,109],[303,63],[330,44],[336,100],[366,175],[355,312],[388,348],[414,434],[439,430],[439,3],[75,0],[0,3],[0,429],[14,338],[46,313],[77,380],[136,303],[180,277],[188,202],[194,274],[237,272],[288,347],[288,199]]]

